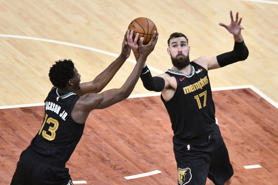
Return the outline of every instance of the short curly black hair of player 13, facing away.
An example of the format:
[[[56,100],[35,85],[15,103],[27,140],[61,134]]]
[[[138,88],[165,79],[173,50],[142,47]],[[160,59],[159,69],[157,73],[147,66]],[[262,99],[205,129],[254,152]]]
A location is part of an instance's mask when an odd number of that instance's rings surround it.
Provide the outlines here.
[[[67,82],[73,77],[73,75],[74,63],[71,59],[55,61],[55,64],[50,67],[48,74],[51,83],[58,88],[66,87]]]

